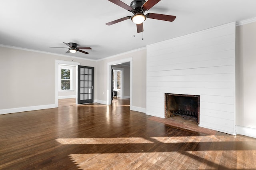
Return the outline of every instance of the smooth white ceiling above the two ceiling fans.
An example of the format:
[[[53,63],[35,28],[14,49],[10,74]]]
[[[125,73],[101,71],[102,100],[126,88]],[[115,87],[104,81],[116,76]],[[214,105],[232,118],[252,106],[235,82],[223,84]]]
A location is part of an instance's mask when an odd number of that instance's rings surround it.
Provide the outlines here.
[[[132,0],[122,0],[130,6]],[[131,16],[108,0],[4,0],[0,10],[0,44],[65,54],[62,42],[91,47],[74,57],[102,59],[146,45],[222,24],[256,17],[256,0],[161,0],[148,12],[174,15],[174,22],[146,19],[137,33]],[[134,37],[135,35],[135,37]],[[142,40],[142,37],[144,40]]]

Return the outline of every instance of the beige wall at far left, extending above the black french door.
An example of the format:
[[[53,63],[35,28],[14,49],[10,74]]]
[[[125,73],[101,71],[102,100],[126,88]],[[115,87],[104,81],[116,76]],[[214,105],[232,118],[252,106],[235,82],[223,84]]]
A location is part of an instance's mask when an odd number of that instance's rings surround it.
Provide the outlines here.
[[[53,105],[55,59],[72,61],[70,57],[60,55],[0,47],[0,110]],[[96,66],[96,61],[74,61]]]

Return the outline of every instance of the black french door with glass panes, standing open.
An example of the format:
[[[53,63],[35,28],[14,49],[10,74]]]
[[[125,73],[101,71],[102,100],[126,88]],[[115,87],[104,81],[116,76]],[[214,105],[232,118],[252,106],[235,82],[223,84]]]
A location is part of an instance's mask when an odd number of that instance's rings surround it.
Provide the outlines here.
[[[93,103],[94,67],[78,65],[78,104]]]

